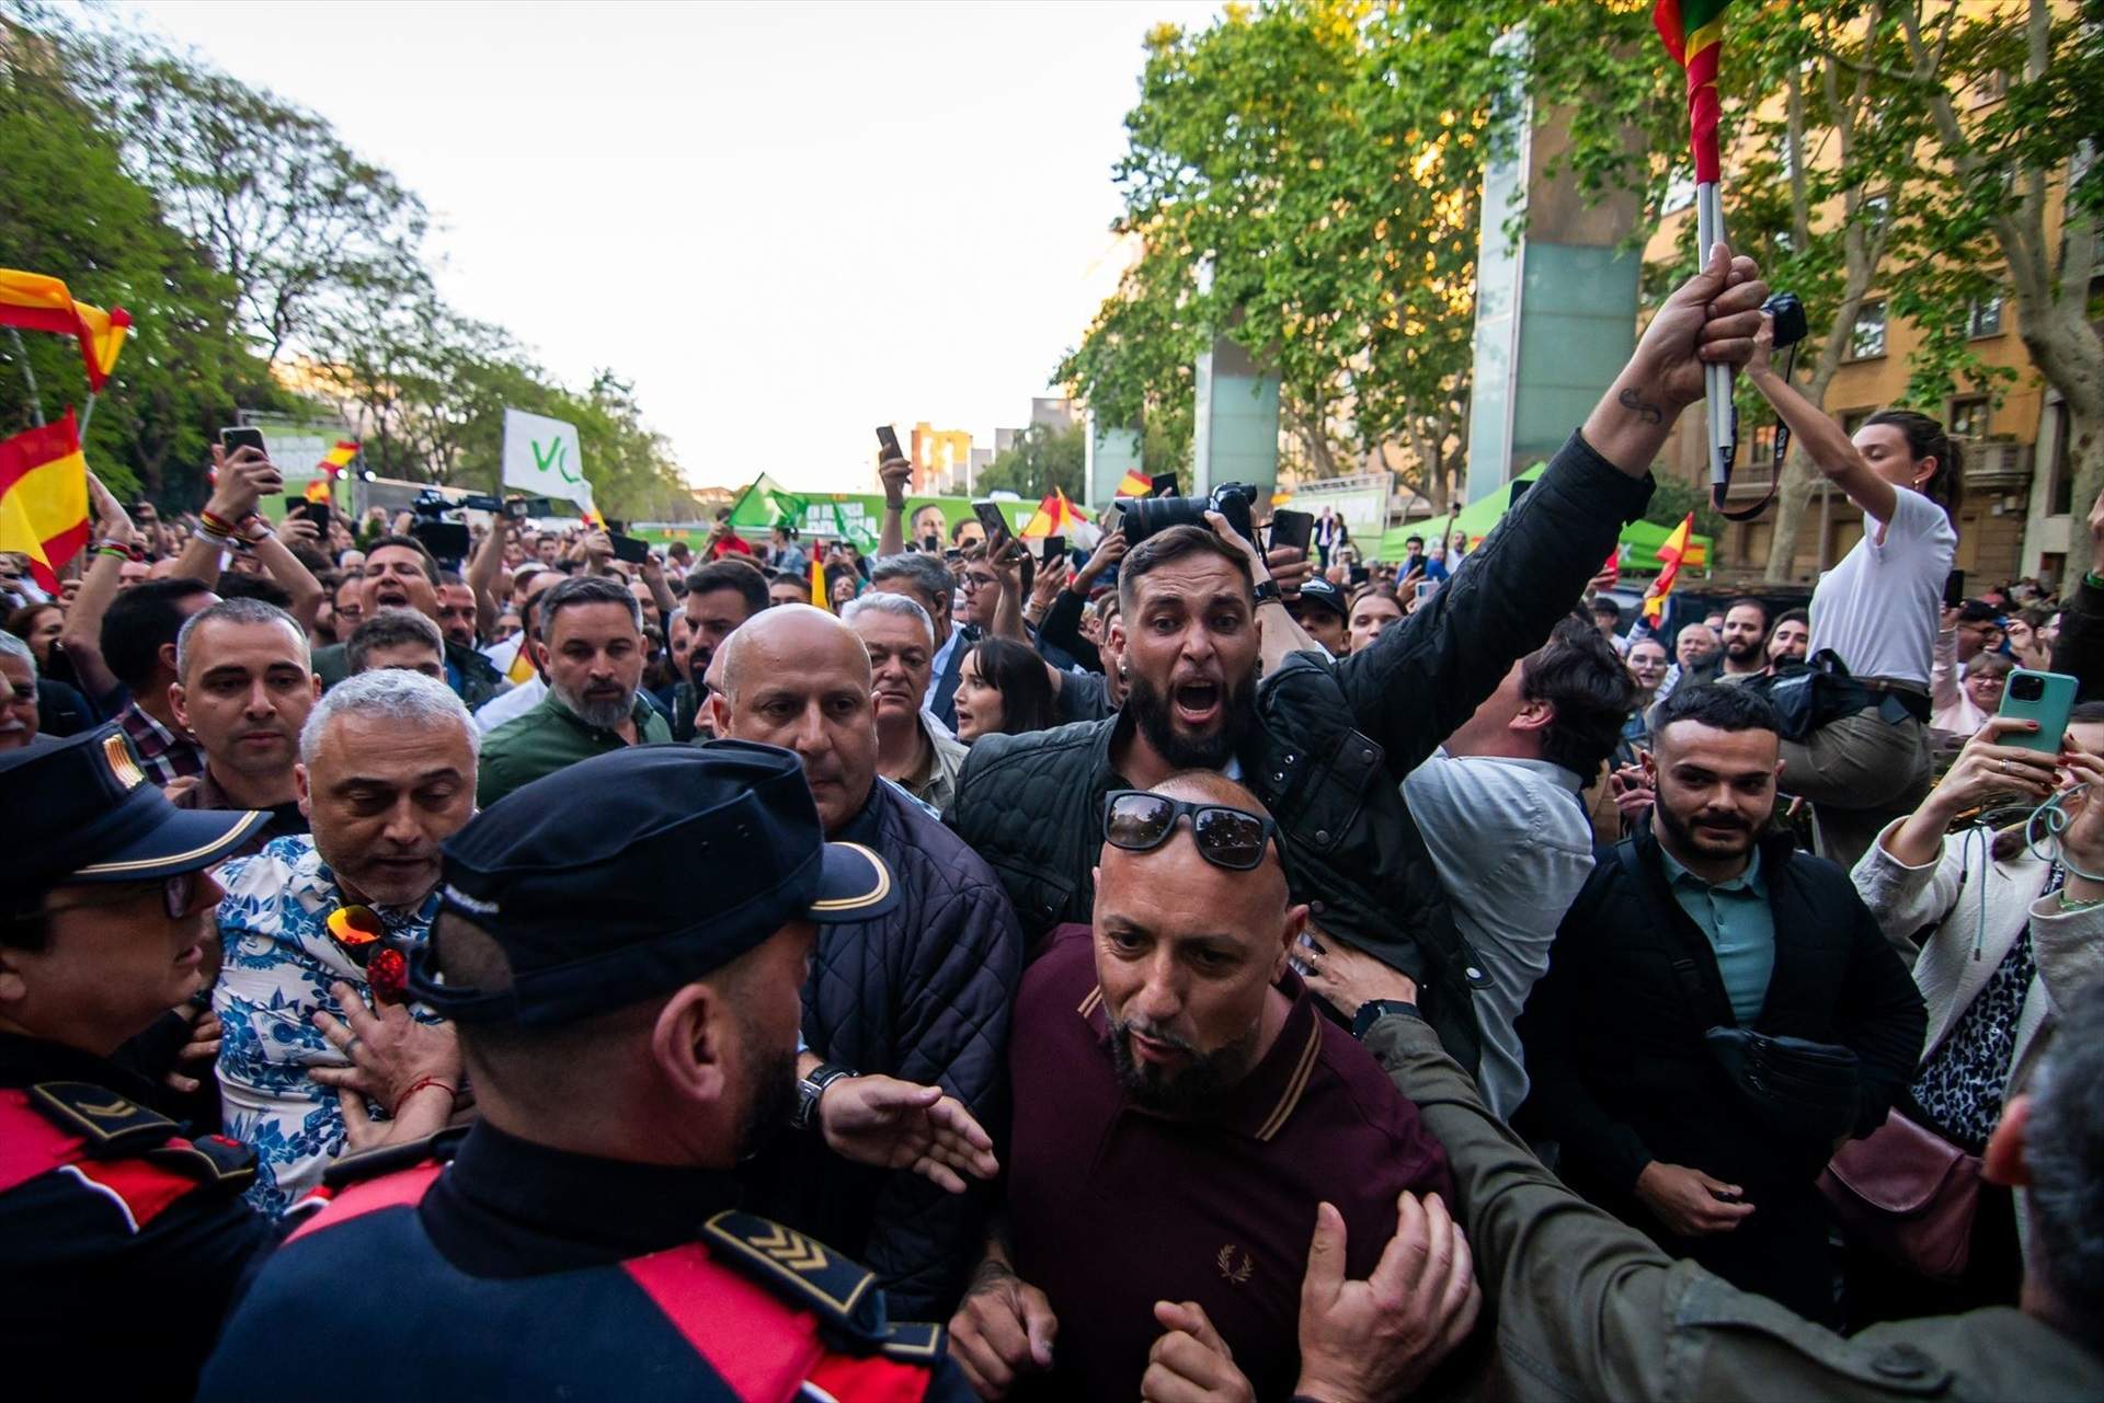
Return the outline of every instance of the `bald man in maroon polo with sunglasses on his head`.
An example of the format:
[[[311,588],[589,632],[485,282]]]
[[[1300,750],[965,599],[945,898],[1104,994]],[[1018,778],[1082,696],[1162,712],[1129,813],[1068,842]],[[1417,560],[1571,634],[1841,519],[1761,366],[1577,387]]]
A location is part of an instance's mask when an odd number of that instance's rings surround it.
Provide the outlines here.
[[[1292,972],[1309,909],[1248,789],[1185,772],[1111,791],[1100,822],[1094,923],[1052,932],[1023,980],[1012,1235],[951,1357],[980,1397],[1044,1371],[1041,1397],[1130,1399],[1176,1331],[1222,1342],[1258,1399],[1336,1397],[1296,1344],[1315,1205],[1365,1277],[1424,1207],[1401,1195],[1452,1201],[1445,1155]]]

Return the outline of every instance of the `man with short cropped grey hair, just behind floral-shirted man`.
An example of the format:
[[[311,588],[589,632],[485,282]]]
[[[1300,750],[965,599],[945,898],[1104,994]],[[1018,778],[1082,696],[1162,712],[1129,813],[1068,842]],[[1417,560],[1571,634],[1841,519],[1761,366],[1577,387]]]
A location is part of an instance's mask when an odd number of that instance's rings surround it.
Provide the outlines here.
[[[175,635],[168,709],[204,747],[204,774],[173,793],[177,808],[265,810],[234,856],[307,831],[292,768],[299,728],[322,686],[307,660],[307,631],[276,604],[221,599],[183,621]]]

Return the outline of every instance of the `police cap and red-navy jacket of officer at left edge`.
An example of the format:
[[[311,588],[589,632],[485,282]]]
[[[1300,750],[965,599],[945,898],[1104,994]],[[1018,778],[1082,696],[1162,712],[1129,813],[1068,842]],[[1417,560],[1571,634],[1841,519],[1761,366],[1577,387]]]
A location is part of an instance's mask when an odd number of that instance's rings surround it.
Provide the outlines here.
[[[181,812],[103,728],[0,761],[4,904],[158,881],[269,818]],[[13,926],[13,921],[11,921]],[[0,936],[4,938],[4,936]],[[255,1157],[191,1140],[170,1092],[95,1052],[0,1035],[0,1392],[187,1399],[271,1226],[242,1201]]]

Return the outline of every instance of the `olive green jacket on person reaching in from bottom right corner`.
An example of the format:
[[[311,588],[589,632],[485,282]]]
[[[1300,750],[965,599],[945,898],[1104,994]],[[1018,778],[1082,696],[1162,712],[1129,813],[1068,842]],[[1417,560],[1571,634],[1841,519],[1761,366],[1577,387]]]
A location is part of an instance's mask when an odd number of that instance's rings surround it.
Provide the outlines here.
[[[1675,1262],[1544,1170],[1424,1022],[1391,1014],[1365,1045],[1445,1144],[1483,1315],[1498,1321],[1494,1397],[2104,1399],[2104,1355],[2022,1310],[1843,1338]]]

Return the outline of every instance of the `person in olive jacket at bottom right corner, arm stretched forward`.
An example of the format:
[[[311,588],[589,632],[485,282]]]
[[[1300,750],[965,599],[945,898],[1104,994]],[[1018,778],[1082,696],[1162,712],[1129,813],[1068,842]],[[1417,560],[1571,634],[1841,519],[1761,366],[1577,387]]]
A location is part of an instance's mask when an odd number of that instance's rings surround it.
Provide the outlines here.
[[[1675,1262],[1565,1188],[1483,1109],[1416,1014],[1416,987],[1342,947],[1323,993],[1445,1144],[1460,1220],[1496,1308],[1496,1392],[1517,1399],[2104,1399],[2104,980],[2060,1012],[1986,1176],[2028,1188],[2022,1310],[1873,1325],[1854,1338]],[[1490,1315],[1485,1310],[1485,1315]]]

